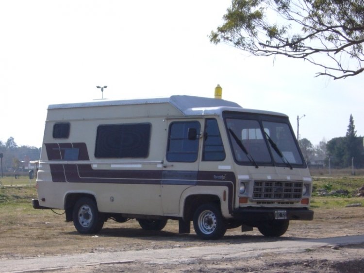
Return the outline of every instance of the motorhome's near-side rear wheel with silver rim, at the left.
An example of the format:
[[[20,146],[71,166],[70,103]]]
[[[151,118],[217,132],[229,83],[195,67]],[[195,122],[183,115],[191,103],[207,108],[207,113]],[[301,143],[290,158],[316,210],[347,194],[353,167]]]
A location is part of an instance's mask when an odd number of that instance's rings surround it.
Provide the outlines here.
[[[89,197],[79,199],[73,207],[73,224],[81,234],[98,233],[104,222],[95,201]]]

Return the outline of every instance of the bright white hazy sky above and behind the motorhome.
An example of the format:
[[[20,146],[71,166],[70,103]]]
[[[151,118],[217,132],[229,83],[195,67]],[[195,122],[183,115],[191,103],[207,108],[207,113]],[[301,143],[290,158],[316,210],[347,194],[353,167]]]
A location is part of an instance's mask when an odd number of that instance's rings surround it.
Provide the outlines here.
[[[315,77],[303,60],[256,57],[208,35],[231,0],[0,1],[0,141],[42,146],[50,104],[192,95],[289,116],[313,145],[364,136],[364,73]]]

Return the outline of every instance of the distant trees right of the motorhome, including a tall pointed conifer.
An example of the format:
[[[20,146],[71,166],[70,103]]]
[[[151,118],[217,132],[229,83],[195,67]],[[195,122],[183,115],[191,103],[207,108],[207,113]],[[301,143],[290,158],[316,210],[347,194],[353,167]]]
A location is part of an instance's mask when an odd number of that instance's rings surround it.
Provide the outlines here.
[[[328,142],[320,141],[313,146],[307,138],[299,140],[302,154],[311,167],[364,168],[364,137],[357,136],[353,116],[350,115],[346,136],[334,137]]]

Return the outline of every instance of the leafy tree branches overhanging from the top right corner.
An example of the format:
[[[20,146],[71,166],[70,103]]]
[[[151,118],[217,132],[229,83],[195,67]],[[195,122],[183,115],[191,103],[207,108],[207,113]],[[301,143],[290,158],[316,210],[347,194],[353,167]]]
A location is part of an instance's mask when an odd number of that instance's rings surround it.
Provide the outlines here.
[[[322,69],[316,76],[364,71],[364,0],[232,0],[223,20],[212,43],[307,60]]]

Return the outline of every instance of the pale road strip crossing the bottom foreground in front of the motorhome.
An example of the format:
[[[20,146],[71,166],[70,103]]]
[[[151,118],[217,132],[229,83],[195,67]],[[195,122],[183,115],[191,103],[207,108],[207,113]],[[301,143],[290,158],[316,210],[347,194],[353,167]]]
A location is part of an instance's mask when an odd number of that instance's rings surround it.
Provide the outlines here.
[[[364,267],[364,259],[348,259],[364,255],[364,235],[326,239],[273,239],[246,244],[221,243],[214,246],[162,248],[77,255],[44,256],[28,259],[1,260],[0,272],[221,272],[246,270],[279,272],[277,266],[304,267],[316,270],[313,256],[330,256],[331,261],[346,262],[350,272]],[[330,255],[329,255],[330,254]],[[310,258],[308,258],[310,256]],[[274,267],[272,267],[272,264]],[[202,269],[204,265],[205,270]],[[210,268],[207,270],[206,266]],[[332,263],[337,267],[336,263]],[[334,268],[335,268],[334,267]],[[333,269],[334,269],[333,268]],[[296,270],[297,270],[296,269]],[[295,270],[295,271],[296,271]],[[307,271],[306,271],[307,272]],[[340,271],[341,272],[341,271]]]

